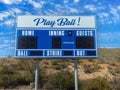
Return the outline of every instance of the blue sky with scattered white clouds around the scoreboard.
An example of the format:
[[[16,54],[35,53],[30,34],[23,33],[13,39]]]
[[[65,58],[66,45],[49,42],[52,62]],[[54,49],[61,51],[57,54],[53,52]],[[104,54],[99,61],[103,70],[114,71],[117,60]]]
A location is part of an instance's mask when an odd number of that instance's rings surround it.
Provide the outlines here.
[[[120,47],[119,0],[0,0],[0,57],[14,55],[20,14],[96,15],[98,47]]]

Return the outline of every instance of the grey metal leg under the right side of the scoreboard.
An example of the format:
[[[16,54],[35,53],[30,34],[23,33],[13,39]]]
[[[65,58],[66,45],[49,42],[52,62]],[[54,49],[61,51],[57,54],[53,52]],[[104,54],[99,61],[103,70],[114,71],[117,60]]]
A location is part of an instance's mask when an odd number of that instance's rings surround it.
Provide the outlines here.
[[[75,90],[78,90],[78,63],[77,59],[74,61],[74,77],[75,77]]]

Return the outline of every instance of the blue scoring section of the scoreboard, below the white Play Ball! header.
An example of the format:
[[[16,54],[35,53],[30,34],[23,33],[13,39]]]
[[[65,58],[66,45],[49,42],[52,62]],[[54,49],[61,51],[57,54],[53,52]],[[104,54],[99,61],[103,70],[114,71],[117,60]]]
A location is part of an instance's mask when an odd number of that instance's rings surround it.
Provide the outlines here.
[[[15,55],[18,58],[97,57],[95,29],[18,29]]]

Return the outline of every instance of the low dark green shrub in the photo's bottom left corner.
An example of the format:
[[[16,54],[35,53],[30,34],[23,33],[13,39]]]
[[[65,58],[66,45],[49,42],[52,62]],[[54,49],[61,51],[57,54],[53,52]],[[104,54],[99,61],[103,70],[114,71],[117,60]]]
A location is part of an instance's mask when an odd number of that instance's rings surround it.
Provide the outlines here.
[[[30,80],[26,80],[25,78],[26,77],[23,77],[20,74],[0,74],[0,87],[14,88],[17,85],[29,85]]]

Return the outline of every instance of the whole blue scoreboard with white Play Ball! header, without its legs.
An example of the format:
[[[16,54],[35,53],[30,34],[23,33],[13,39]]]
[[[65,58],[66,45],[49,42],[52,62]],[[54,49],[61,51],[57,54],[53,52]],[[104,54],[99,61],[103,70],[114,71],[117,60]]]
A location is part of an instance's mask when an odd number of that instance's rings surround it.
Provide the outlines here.
[[[17,58],[97,57],[95,16],[17,16]]]

